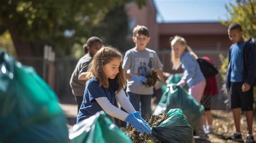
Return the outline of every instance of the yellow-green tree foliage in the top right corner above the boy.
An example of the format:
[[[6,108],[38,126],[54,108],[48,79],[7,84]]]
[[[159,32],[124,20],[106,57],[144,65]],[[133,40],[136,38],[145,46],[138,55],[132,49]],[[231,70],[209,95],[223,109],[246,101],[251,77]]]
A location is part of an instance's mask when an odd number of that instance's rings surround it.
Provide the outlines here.
[[[226,5],[230,19],[224,25],[239,23],[242,26],[244,38],[256,37],[256,1],[236,0],[235,4]]]

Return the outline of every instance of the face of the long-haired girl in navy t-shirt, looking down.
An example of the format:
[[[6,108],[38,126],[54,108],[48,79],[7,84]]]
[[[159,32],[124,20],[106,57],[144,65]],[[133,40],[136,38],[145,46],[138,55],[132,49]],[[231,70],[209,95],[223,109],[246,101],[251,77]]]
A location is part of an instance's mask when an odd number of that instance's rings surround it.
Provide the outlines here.
[[[107,78],[114,79],[119,72],[119,66],[121,63],[120,58],[113,58],[110,63],[103,66],[104,74]]]

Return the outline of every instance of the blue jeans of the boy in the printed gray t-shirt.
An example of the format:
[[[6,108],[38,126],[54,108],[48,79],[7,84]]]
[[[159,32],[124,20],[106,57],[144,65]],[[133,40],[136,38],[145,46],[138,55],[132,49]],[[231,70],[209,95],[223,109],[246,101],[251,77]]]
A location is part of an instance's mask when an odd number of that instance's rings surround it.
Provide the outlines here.
[[[127,94],[134,109],[142,114],[144,120],[149,121],[151,117],[152,95],[140,95],[132,92],[128,92]]]

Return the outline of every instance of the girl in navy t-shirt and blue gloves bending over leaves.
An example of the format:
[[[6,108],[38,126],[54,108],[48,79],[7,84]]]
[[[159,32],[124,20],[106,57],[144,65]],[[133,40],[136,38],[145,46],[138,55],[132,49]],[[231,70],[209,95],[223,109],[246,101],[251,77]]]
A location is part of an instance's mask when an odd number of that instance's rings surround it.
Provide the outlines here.
[[[139,132],[150,134],[151,127],[134,110],[123,90],[125,77],[120,66],[122,58],[122,54],[113,47],[103,47],[95,54],[86,74],[89,81],[85,87],[77,122],[104,110],[114,118],[129,122]],[[113,105],[115,99],[126,112]]]

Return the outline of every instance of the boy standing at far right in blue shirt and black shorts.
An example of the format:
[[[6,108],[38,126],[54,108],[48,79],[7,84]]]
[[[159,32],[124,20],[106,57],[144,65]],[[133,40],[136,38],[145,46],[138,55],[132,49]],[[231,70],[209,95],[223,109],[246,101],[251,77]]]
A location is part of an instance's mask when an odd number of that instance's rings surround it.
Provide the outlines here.
[[[243,141],[240,131],[240,108],[245,111],[248,125],[246,142],[254,142],[253,126],[253,86],[256,85],[256,50],[250,42],[244,42],[241,25],[233,23],[228,27],[228,37],[234,43],[230,47],[226,72],[226,87],[230,92],[236,132],[234,141]]]

